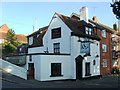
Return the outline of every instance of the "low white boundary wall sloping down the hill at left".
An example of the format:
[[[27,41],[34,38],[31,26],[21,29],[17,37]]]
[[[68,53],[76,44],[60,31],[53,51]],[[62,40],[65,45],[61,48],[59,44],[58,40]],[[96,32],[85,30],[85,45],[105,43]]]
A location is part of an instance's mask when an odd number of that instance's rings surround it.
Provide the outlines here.
[[[18,76],[23,79],[27,79],[27,70],[26,69],[16,66],[14,64],[11,64],[2,59],[0,59],[0,64],[1,64],[0,68],[2,70],[7,71],[8,69],[11,69],[11,72],[9,72],[10,74],[13,74],[13,75]]]

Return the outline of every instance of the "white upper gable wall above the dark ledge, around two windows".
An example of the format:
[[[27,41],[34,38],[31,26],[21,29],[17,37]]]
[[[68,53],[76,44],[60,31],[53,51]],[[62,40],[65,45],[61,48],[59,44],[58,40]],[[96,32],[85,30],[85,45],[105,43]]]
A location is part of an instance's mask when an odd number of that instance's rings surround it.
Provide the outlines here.
[[[51,29],[61,27],[61,38],[51,39]],[[60,42],[60,53],[70,53],[70,37],[71,37],[71,30],[66,26],[66,24],[58,17],[54,18],[46,32],[43,45],[45,49],[48,47],[49,53],[53,53],[53,43]]]

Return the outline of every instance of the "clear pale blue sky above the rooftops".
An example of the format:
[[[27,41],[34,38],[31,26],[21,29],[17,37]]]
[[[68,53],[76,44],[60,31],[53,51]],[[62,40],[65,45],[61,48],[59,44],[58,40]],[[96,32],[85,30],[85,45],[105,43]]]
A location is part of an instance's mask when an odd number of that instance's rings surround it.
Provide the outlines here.
[[[7,24],[16,34],[29,35],[47,26],[55,12],[70,16],[78,13],[83,6],[88,7],[89,18],[97,16],[98,22],[112,27],[117,19],[110,2],[2,2],[0,4],[0,26]]]

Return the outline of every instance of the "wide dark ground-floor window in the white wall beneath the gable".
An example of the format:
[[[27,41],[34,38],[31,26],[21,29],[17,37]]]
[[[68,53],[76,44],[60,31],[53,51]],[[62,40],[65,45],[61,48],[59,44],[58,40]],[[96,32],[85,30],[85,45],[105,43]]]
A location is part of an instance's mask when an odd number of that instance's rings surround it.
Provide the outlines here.
[[[61,75],[61,63],[51,63],[51,77]]]

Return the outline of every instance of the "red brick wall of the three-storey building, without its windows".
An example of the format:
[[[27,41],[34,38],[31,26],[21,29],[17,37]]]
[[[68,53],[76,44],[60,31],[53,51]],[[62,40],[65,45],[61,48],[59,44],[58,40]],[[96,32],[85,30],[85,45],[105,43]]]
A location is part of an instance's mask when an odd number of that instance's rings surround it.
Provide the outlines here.
[[[101,75],[107,75],[111,73],[111,65],[112,65],[112,46],[111,46],[111,37],[112,34],[106,32],[106,38],[103,38],[101,35],[102,31],[97,30],[97,35],[101,38],[100,41],[100,72]],[[103,52],[102,44],[107,45],[107,52]],[[103,67],[103,59],[107,61],[107,67]]]

